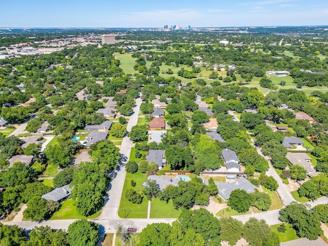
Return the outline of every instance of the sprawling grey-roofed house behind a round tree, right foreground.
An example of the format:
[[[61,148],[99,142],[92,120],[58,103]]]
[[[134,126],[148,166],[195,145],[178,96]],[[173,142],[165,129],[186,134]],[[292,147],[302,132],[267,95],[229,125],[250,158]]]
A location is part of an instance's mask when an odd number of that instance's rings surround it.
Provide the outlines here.
[[[254,186],[250,181],[248,181],[244,177],[238,178],[237,181],[232,183],[221,183],[217,181],[214,181],[214,183],[219,190],[219,195],[225,201],[227,201],[230,198],[230,194],[234,190],[240,189],[246,191],[247,193],[254,193],[256,189],[256,186]]]

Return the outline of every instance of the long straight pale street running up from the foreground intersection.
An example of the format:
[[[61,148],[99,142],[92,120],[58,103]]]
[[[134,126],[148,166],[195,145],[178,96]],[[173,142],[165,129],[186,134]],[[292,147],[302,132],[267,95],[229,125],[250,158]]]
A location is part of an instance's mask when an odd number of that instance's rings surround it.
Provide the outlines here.
[[[127,125],[127,131],[131,131],[131,128],[135,125],[137,125],[138,122],[138,115],[141,105],[141,95],[139,98],[136,99],[136,106],[133,109],[133,114],[130,116],[128,125]],[[132,141],[127,136],[123,138],[122,144],[121,144],[121,150],[120,153],[123,156],[124,163],[128,161],[128,158],[130,156],[132,148]],[[125,168],[120,165],[119,170],[116,170],[114,173],[114,178],[112,179],[110,183],[109,191],[107,192],[108,197],[105,201],[105,205],[103,210],[101,211],[101,214],[99,216],[99,219],[118,219],[118,208],[119,208],[119,202],[121,199],[121,194],[124,186],[124,180],[125,180],[126,171]]]

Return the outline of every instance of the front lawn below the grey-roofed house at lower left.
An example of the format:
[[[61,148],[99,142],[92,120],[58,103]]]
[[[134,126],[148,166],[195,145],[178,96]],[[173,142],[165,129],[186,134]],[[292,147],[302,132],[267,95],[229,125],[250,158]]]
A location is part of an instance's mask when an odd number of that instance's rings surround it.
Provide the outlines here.
[[[101,210],[91,216],[81,215],[74,206],[74,200],[68,199],[60,203],[60,209],[56,211],[50,219],[95,219],[101,213]]]

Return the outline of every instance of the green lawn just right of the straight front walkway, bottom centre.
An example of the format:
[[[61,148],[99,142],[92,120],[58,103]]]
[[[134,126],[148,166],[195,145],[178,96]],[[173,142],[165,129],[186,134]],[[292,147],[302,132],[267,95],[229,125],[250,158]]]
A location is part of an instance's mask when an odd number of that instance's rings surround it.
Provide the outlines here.
[[[150,206],[150,218],[178,218],[182,209],[174,209],[173,202],[170,199],[168,203],[153,198]]]

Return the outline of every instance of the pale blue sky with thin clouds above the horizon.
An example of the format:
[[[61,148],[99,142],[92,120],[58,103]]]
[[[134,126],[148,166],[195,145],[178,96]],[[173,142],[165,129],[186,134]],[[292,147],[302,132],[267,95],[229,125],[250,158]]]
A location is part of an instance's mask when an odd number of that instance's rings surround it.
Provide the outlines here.
[[[328,25],[327,0],[0,0],[0,27]]]

